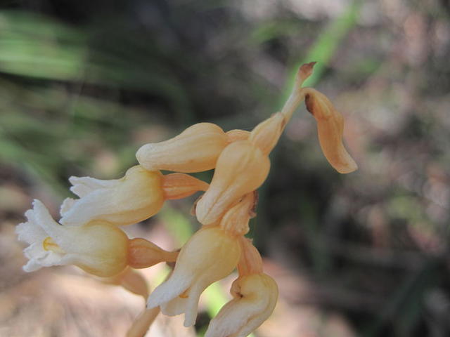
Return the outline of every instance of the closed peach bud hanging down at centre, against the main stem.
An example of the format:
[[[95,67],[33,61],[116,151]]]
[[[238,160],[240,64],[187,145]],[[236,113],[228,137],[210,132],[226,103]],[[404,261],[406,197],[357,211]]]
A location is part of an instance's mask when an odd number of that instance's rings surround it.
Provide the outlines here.
[[[269,157],[248,140],[228,145],[217,159],[210,187],[195,208],[198,221],[215,223],[244,194],[262,185],[269,169]]]

